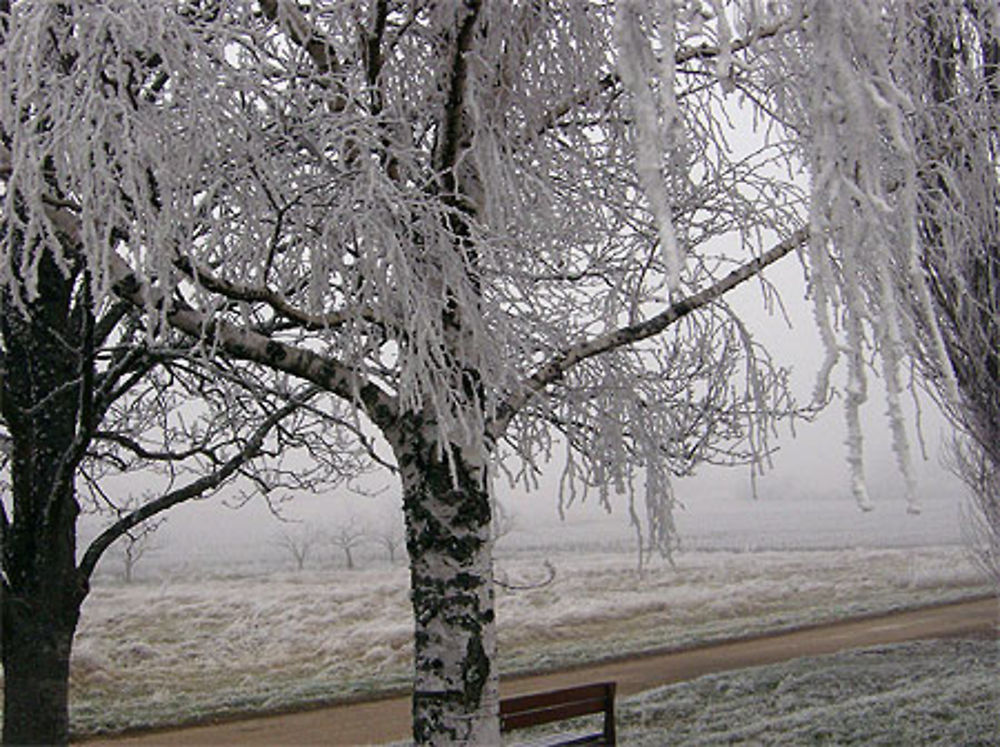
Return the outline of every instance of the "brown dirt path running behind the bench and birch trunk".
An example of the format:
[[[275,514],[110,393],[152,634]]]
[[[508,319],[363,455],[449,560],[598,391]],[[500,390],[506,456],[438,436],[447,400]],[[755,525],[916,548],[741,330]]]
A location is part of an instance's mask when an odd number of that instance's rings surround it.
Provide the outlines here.
[[[501,684],[501,694],[599,680],[615,680],[619,695],[631,695],[702,674],[769,664],[797,656],[833,653],[880,643],[919,638],[993,635],[1000,630],[995,598],[925,607],[862,620],[833,623],[792,633],[762,636],[685,651],[653,654],[557,672],[517,677]],[[113,740],[87,741],[86,747],[131,745],[358,745],[405,739],[409,699],[391,698],[300,713],[248,718],[207,726],[172,729]]]

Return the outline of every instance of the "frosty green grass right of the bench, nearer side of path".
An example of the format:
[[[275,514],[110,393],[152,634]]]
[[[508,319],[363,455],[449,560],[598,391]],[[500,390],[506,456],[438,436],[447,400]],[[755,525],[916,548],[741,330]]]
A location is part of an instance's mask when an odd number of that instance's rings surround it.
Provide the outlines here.
[[[619,744],[996,745],[998,664],[995,640],[956,639],[706,675],[619,700]]]

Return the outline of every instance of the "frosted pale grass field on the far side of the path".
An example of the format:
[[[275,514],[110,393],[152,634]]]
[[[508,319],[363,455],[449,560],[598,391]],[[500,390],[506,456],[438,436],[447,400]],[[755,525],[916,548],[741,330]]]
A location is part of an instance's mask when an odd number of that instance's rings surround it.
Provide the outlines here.
[[[517,551],[497,575],[501,665],[539,670],[986,591],[960,546],[685,551],[636,573],[628,550]],[[105,580],[72,666],[76,733],[190,721],[402,687],[404,568]]]

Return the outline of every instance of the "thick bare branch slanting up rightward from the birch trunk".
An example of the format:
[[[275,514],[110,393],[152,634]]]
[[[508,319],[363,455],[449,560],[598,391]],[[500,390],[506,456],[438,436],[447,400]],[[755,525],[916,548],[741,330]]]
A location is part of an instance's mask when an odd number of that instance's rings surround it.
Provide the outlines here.
[[[671,304],[656,316],[585,340],[557,353],[548,363],[529,376],[519,390],[501,406],[497,416],[489,426],[489,436],[493,440],[498,439],[511,419],[533,397],[559,381],[574,366],[589,358],[655,337],[678,320],[718,300],[745,280],[760,273],[768,265],[777,262],[789,252],[802,246],[807,238],[807,230],[800,229],[764,254],[754,257],[746,264],[733,270],[719,282]]]

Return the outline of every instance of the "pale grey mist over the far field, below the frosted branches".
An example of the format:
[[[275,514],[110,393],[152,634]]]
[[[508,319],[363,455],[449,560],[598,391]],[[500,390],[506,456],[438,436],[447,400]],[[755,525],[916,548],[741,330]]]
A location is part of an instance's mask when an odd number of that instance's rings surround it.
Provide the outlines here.
[[[801,426],[798,439],[782,439],[774,469],[757,480],[756,497],[745,468],[707,468],[677,480],[679,505],[674,518],[679,547],[745,551],[962,544],[964,486],[932,451],[917,464],[921,512],[907,513],[901,479],[880,432],[884,424],[877,417],[873,415],[869,468],[874,510],[860,511],[849,495],[842,446],[829,433],[841,426],[839,413],[826,413],[818,423]],[[616,500],[609,513],[591,496],[567,506],[561,518],[554,476],[531,493],[501,480],[497,488],[510,517],[510,530],[497,547],[501,556],[514,549],[603,547],[634,552],[637,547],[623,500]],[[219,499],[178,507],[153,535],[151,551],[136,573],[158,578],[163,573],[197,575],[224,567],[291,568],[292,559],[277,543],[283,533],[331,533],[349,523],[369,534],[393,527],[401,532],[399,496],[391,477],[372,478],[369,492],[295,496],[278,506],[281,520],[259,498],[239,509],[227,508]],[[404,548],[399,552],[405,555]],[[355,554],[360,563],[370,565],[380,563],[386,551],[369,538]],[[342,552],[325,540],[316,543],[306,561],[312,568],[342,564]],[[120,574],[116,548],[98,572]]]

